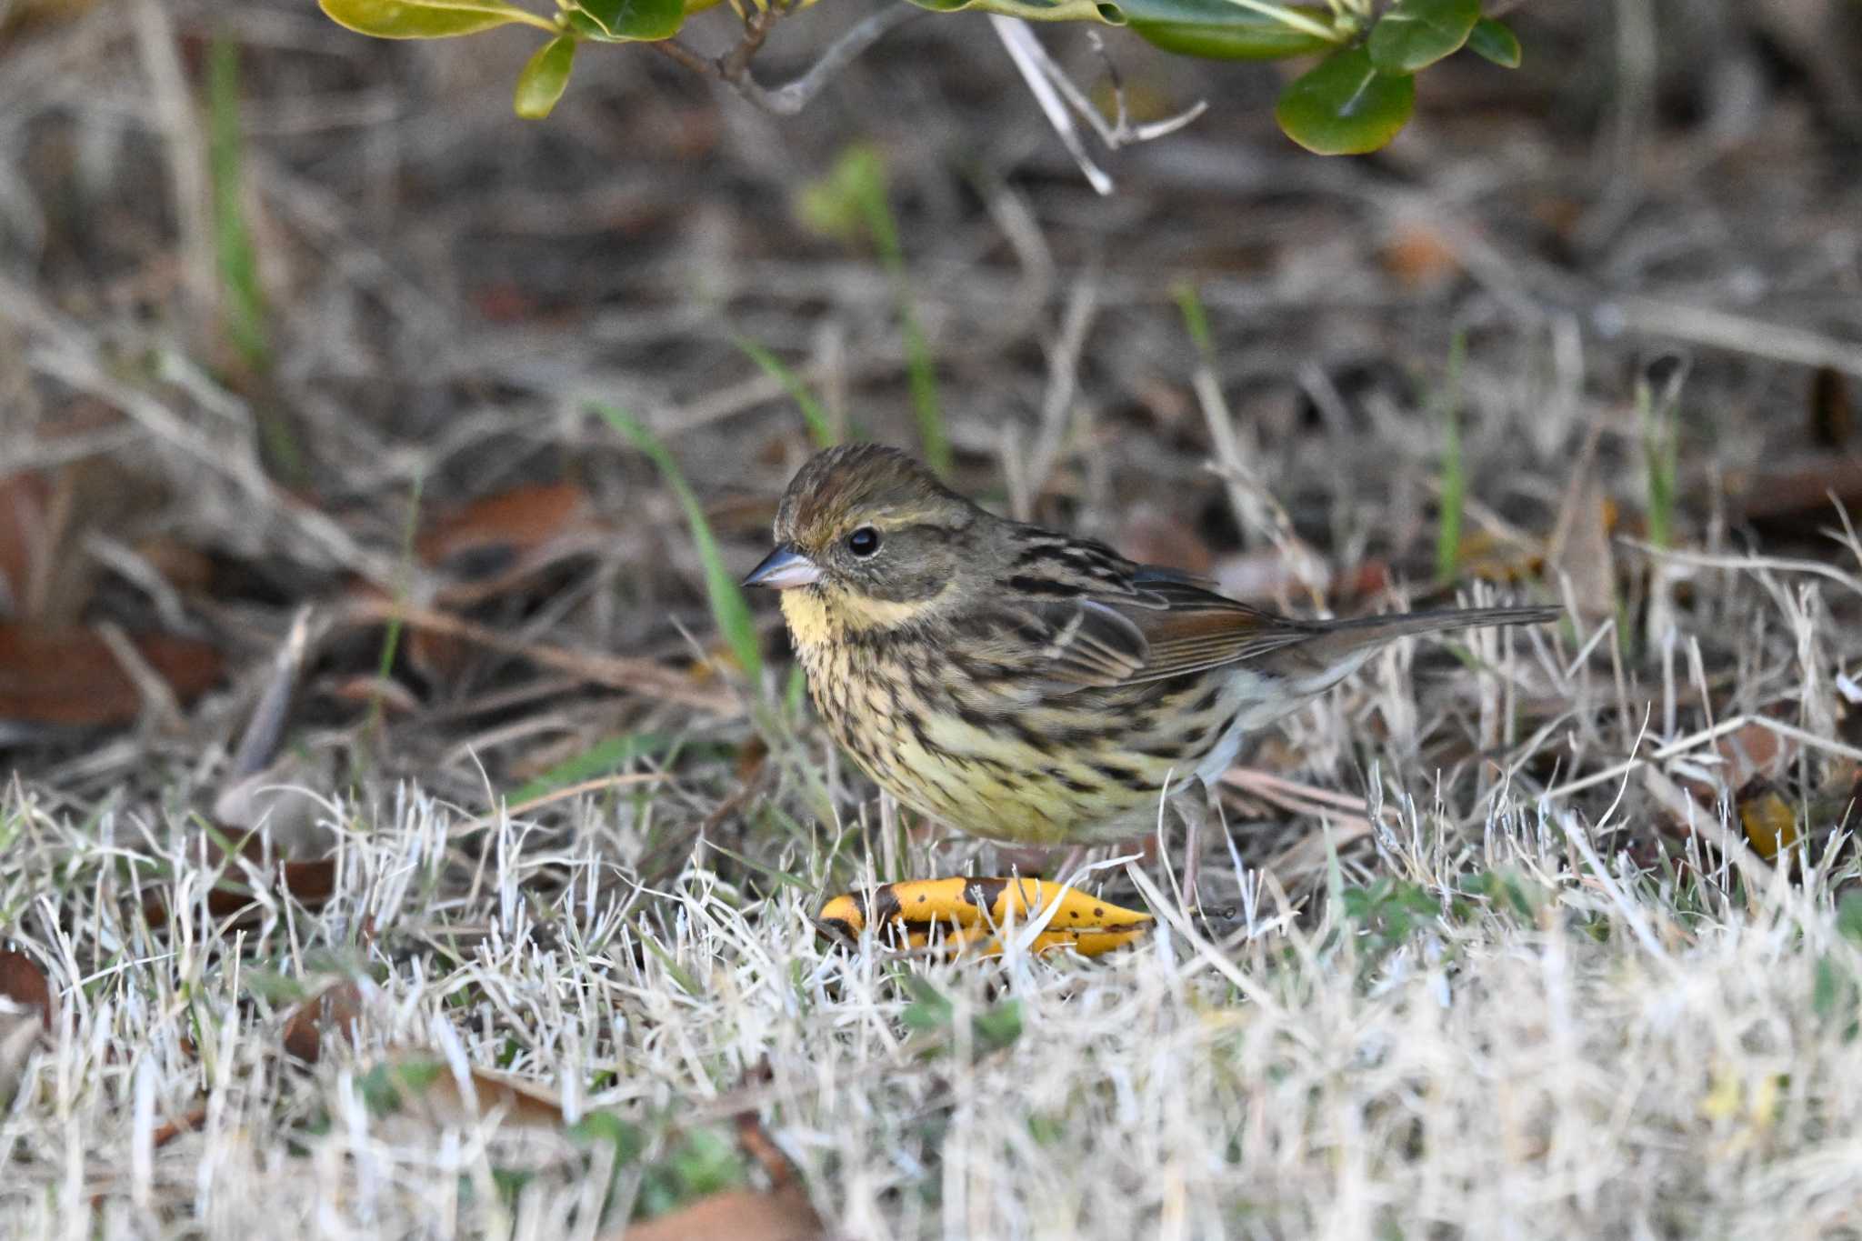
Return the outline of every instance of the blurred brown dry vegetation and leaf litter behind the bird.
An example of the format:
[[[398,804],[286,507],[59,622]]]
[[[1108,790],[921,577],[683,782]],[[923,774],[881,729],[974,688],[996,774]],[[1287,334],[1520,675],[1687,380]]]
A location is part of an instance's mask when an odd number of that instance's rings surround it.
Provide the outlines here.
[[[983,15],[897,24],[797,115],[585,48],[523,121],[527,28],[11,0],[0,746],[207,780],[302,607],[287,718],[333,772],[477,796],[480,761],[739,714],[780,631],[724,579],[842,435],[1242,597],[1486,577],[1640,659],[1672,610],[1612,540],[1830,556],[1862,495],[1862,13],[1503,7],[1523,65],[1434,65],[1359,158],[1275,128],[1298,61],[1024,26],[1106,117],[1207,104],[1082,127],[1100,193]],[[873,13],[788,15],[756,78]]]

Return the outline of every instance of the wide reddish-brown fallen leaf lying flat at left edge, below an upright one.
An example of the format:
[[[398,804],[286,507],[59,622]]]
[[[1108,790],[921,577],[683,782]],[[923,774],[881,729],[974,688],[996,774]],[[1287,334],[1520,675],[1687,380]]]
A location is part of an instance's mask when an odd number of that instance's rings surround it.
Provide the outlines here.
[[[143,634],[134,647],[179,701],[199,698],[223,668],[220,651],[194,638]],[[95,727],[128,724],[142,705],[95,631],[0,625],[0,718]]]

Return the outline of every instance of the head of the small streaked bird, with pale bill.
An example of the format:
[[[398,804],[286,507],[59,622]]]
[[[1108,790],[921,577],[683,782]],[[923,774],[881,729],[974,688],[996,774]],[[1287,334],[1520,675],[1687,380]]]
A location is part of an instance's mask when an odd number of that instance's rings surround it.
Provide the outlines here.
[[[829,448],[789,482],[776,549],[743,584],[780,590],[803,642],[816,636],[812,621],[890,629],[924,620],[983,573],[991,521],[897,448]]]

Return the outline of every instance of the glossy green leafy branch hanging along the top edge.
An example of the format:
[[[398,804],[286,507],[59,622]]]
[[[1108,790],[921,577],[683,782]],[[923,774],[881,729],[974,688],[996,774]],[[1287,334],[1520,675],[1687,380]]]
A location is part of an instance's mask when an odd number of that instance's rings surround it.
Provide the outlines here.
[[[778,89],[750,76],[750,61],[769,28],[810,0],[732,0],[743,32],[715,60],[674,35],[717,0],[557,0],[544,17],[508,0],[318,0],[331,20],[378,39],[449,39],[499,26],[531,26],[547,35],[518,74],[518,115],[546,117],[568,87],[583,43],[659,43],[672,60],[715,76],[776,113],[797,112],[845,63],[903,20],[907,7],[873,13],[851,26],[810,73]],[[1482,17],[1482,0],[911,0],[933,13],[981,11],[1043,22],[1128,26],[1147,43],[1203,60],[1320,61],[1281,91],[1274,117],[1281,130],[1318,154],[1361,154],[1385,145],[1415,108],[1415,74],[1467,48],[1508,69],[1519,65],[1519,39]]]

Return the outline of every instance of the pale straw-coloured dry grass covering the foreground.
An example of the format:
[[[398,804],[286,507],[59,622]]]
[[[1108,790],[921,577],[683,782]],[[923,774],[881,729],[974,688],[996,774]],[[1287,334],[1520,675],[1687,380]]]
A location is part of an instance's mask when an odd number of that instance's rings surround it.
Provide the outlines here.
[[[836,1235],[1856,1226],[1845,837],[1797,880],[1748,856],[1637,867],[1518,791],[1410,793],[1354,867],[1402,884],[1374,910],[1302,914],[1249,873],[1212,943],[1136,873],[1175,925],[1141,949],[951,964],[816,936],[806,876],[858,848],[836,835],[780,850],[795,884],[693,867],[642,889],[648,819],[680,813],[663,794],[551,824],[413,793],[333,804],[331,902],[266,899],[229,930],[199,902],[214,876],[190,824],[74,822],[15,791],[0,901],[61,1010],[0,1120],[0,1219],[20,1237],[594,1235],[605,1178],[559,1133],[369,1111],[369,1068],[425,1048],[555,1090],[572,1118],[613,1109],[654,1152],[760,1111]],[[901,863],[948,871],[951,848]],[[179,914],[151,923],[128,897],[162,871]],[[324,977],[363,981],[361,1036],[305,1068],[283,1014]],[[911,979],[948,1021],[907,1016]],[[153,1148],[196,1109],[197,1131]]]

